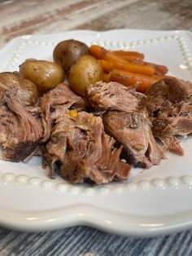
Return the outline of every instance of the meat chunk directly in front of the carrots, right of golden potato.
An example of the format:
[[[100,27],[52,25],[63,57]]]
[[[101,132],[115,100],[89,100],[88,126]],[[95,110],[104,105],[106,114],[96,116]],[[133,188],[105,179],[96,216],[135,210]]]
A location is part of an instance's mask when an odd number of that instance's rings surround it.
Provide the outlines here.
[[[96,114],[108,110],[133,112],[143,98],[145,95],[137,92],[134,86],[125,87],[118,82],[97,82],[85,90],[85,101]]]

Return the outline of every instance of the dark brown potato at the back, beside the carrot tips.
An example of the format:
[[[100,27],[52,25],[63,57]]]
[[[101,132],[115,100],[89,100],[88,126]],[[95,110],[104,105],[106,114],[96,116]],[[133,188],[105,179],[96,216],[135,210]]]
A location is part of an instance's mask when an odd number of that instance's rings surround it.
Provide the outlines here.
[[[68,73],[73,64],[82,55],[88,55],[89,47],[84,42],[73,39],[59,42],[54,49],[53,58]]]

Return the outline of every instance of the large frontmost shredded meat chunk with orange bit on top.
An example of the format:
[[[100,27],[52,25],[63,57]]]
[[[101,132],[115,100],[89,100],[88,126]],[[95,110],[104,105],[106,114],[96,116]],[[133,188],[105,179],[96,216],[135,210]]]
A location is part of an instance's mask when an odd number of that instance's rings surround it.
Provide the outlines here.
[[[71,183],[109,183],[128,179],[130,166],[120,161],[120,148],[106,135],[101,117],[72,110],[59,117],[52,131],[44,166]]]

